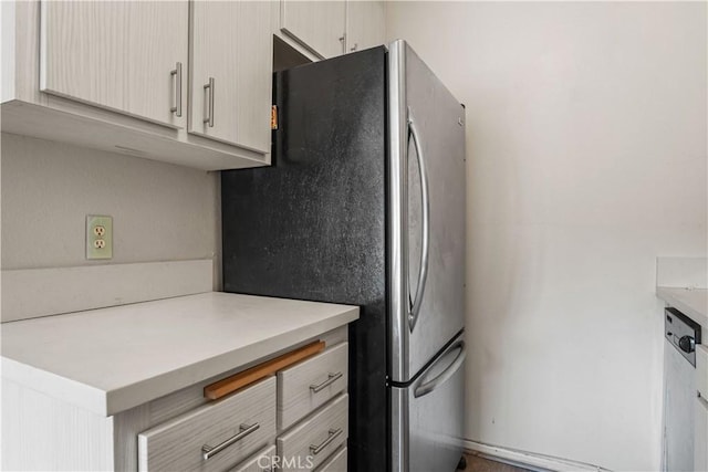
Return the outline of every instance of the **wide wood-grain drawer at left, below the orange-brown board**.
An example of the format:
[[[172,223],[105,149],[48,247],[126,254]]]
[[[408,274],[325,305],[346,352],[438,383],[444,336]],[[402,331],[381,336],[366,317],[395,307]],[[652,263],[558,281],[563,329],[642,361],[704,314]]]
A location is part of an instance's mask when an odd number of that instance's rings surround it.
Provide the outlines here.
[[[275,377],[270,377],[138,434],[138,469],[221,471],[274,436]],[[205,445],[212,448],[209,459]]]

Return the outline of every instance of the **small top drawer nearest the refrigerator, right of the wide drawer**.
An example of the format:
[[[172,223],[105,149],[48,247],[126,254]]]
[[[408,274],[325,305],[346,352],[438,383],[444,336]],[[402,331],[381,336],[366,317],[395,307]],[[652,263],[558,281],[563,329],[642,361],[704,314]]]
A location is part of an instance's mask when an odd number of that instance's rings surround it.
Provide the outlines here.
[[[278,430],[283,431],[314,411],[348,382],[348,344],[342,343],[278,373]]]

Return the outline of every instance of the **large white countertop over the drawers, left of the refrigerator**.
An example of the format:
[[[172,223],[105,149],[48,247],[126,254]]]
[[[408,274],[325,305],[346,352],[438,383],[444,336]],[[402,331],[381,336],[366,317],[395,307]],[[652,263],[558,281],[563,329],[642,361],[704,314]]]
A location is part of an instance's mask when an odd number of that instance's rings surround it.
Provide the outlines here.
[[[111,416],[358,318],[220,292],[2,324],[2,376]]]

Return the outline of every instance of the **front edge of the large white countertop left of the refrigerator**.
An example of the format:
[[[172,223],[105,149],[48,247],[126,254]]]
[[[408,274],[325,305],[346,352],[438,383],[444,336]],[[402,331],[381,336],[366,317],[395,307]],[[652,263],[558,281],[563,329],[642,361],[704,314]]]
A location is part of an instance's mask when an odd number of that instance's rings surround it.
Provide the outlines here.
[[[345,326],[358,319],[358,314],[360,308],[351,306],[324,319],[257,343],[237,346],[216,357],[108,391],[6,356],[0,357],[2,378],[93,413],[110,417]]]

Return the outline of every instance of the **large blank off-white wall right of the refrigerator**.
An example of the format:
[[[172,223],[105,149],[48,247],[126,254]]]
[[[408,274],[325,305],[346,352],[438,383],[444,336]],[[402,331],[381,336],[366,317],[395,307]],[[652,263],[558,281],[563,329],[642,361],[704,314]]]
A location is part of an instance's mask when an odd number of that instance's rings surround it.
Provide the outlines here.
[[[659,466],[657,255],[707,244],[706,3],[388,2],[467,105],[468,439]]]

